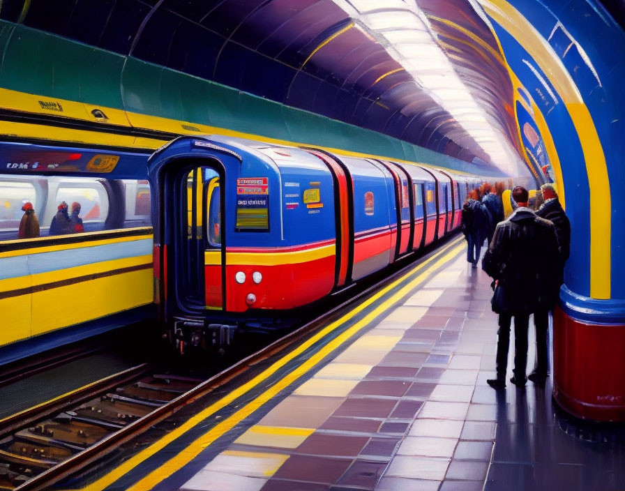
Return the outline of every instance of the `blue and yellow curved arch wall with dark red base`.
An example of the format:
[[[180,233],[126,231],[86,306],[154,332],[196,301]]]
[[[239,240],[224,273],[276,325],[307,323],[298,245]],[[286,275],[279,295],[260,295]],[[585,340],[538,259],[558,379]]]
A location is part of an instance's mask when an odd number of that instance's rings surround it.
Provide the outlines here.
[[[552,147],[571,219],[555,397],[577,416],[623,420],[625,33],[592,0],[479,1]]]

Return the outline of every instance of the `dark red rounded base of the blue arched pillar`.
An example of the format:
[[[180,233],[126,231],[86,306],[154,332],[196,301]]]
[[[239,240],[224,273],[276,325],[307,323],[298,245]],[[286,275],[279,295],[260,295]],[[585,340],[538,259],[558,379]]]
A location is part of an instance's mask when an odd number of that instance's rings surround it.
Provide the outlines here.
[[[625,326],[585,324],[557,307],[553,395],[580,418],[625,421]]]

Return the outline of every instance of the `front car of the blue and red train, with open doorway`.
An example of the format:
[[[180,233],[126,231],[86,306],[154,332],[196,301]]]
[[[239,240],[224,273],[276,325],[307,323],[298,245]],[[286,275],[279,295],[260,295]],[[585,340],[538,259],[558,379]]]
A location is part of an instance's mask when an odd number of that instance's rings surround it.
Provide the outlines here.
[[[181,351],[228,345],[242,324],[270,329],[263,310],[277,318],[333,289],[335,197],[321,159],[181,137],[151,157],[149,180],[155,299]]]

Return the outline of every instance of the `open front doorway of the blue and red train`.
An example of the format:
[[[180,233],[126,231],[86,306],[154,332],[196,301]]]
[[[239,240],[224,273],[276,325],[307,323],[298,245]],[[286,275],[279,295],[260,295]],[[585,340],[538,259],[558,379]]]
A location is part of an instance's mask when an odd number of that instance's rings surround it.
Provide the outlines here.
[[[167,291],[188,314],[221,310],[223,214],[220,175],[213,167],[170,167],[165,174],[163,223]],[[173,294],[173,295],[172,295]]]

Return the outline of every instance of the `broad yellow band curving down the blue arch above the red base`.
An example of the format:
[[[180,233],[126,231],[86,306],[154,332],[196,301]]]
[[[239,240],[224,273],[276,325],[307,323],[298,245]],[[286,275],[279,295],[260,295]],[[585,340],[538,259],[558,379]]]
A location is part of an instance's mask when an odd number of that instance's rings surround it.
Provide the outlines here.
[[[610,299],[611,213],[610,179],[605,155],[592,116],[571,74],[550,44],[523,15],[505,0],[479,0],[495,22],[527,50],[548,77],[571,116],[578,133],[592,199],[590,207],[590,296]]]

